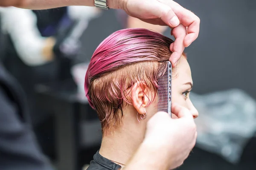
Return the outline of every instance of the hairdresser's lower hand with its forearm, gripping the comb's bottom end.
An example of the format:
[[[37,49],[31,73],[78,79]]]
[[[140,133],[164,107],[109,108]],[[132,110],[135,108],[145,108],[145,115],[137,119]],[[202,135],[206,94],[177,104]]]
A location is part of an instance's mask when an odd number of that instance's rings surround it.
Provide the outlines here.
[[[147,125],[145,139],[125,170],[169,170],[179,167],[195,146],[196,126],[189,110],[172,104],[167,113],[156,113]]]

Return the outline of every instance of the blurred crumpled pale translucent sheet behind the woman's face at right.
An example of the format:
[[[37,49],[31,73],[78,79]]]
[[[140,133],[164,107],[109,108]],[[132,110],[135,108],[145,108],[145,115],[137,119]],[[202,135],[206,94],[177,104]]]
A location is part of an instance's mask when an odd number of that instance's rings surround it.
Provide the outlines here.
[[[256,100],[240,89],[190,94],[200,116],[195,119],[197,146],[238,164],[245,146],[256,135]],[[256,150],[251,153],[256,155]]]

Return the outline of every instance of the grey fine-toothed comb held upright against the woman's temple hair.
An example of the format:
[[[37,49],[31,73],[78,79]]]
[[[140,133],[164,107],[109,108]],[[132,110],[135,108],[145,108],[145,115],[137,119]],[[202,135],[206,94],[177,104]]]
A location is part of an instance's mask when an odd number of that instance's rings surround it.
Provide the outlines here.
[[[162,75],[158,77],[158,111],[164,111],[171,113],[172,107],[172,64],[171,62],[166,62],[166,69]]]

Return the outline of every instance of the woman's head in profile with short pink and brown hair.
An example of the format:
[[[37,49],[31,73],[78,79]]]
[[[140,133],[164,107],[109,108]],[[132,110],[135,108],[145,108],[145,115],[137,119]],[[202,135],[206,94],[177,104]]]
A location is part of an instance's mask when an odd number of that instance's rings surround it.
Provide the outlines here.
[[[136,119],[137,113],[147,112],[149,119],[157,112],[157,78],[172,54],[172,42],[157,32],[131,28],[114,32],[98,46],[85,76],[85,92],[103,130],[119,127],[125,116]],[[183,54],[173,70],[172,101],[196,112],[184,96],[189,84],[191,72]]]

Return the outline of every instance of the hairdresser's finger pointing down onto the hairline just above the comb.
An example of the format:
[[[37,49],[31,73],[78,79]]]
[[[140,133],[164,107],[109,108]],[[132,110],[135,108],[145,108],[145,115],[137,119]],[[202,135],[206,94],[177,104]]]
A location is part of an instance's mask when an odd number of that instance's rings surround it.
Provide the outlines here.
[[[172,51],[170,61],[175,67],[185,49],[183,42],[184,38],[186,37],[186,27],[180,24],[172,29],[172,34],[175,37],[175,41],[173,42],[173,45],[170,46],[170,50]]]

